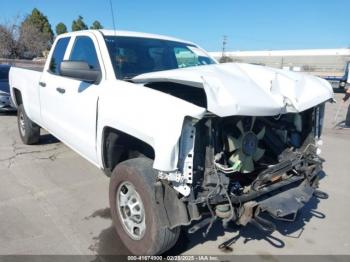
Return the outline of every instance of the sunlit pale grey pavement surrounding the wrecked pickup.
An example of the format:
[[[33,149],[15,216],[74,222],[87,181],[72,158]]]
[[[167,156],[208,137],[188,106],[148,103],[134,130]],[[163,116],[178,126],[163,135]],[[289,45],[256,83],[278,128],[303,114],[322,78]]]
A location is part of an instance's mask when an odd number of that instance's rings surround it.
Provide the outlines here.
[[[170,254],[350,254],[350,129],[332,129],[337,107],[328,105],[322,148],[329,199],[313,198],[272,236],[217,224],[207,239],[184,234]],[[111,226],[108,178],[51,135],[23,145],[15,115],[0,115],[0,181],[1,255],[128,253]],[[217,248],[235,236],[232,253]]]

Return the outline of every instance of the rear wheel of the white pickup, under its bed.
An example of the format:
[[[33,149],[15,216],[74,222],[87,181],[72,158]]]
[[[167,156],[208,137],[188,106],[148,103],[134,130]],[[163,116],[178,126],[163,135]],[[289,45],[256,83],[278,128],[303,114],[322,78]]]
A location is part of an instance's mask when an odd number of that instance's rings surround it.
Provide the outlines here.
[[[21,140],[26,145],[33,145],[39,142],[40,127],[27,116],[23,104],[17,109],[17,125]]]

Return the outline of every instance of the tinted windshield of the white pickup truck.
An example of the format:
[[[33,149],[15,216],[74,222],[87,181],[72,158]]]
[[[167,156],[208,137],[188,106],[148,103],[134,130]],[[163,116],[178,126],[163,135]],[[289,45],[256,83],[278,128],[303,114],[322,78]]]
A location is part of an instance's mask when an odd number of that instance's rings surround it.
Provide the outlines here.
[[[186,43],[124,36],[106,36],[105,40],[118,79],[216,63],[203,50]]]

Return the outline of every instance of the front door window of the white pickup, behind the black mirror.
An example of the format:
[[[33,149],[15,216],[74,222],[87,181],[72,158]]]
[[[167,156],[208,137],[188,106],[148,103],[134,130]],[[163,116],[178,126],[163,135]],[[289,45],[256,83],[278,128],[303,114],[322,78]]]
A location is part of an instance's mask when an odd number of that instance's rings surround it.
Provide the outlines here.
[[[84,61],[89,64],[91,69],[100,69],[94,42],[88,36],[76,38],[69,60]]]

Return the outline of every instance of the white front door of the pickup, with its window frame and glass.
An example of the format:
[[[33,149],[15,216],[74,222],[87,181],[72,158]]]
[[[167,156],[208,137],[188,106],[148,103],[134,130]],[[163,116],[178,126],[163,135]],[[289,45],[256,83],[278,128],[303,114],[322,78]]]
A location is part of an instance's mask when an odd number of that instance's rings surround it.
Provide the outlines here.
[[[90,68],[101,70],[99,53],[94,35],[84,33],[71,38],[63,60],[84,61]],[[91,162],[97,163],[95,139],[99,84],[62,76],[54,76],[48,83],[47,89],[50,89],[54,101],[50,99],[47,103],[55,104],[50,119],[51,123],[55,123],[54,126],[50,124],[53,133]]]

